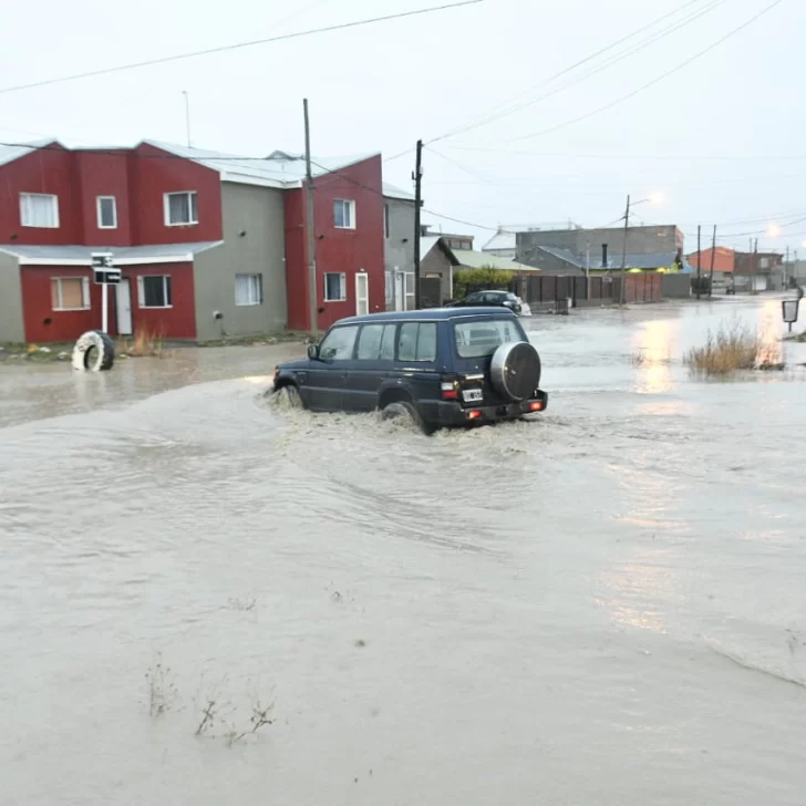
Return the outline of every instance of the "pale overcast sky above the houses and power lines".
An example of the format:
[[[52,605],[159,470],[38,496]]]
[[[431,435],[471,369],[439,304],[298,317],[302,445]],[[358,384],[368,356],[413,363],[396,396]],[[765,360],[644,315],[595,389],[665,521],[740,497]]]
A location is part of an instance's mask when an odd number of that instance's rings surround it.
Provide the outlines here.
[[[108,0],[7,3],[0,90],[450,1],[140,0],[125,11]],[[772,1],[484,0],[0,92],[0,140],[184,143],[187,91],[195,146],[245,156],[301,152],[301,100],[308,96],[316,154],[392,157],[410,148],[384,168],[388,182],[410,188],[418,137],[432,141],[492,118],[425,151],[426,209],[467,223],[425,216],[444,231],[471,232],[480,247],[493,235],[485,228],[502,224],[602,226],[623,214],[628,193],[637,202],[662,193],[663,204],[640,204],[634,220],[678,224],[689,251],[701,223],[704,239],[719,224],[723,244],[746,248],[747,234],[758,232],[760,249],[788,245],[803,257],[806,1],[782,0],[688,66],[591,114],[705,50]],[[657,39],[638,50],[648,37]],[[495,114],[518,105],[514,114]],[[776,223],[781,235],[774,235]]]

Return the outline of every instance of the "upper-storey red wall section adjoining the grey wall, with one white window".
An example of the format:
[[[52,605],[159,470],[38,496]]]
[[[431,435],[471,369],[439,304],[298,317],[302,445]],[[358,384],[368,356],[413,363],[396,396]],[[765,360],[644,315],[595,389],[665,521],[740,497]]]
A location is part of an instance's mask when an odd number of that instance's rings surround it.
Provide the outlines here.
[[[218,173],[151,145],[138,146],[128,159],[133,244],[190,244],[221,240],[221,182]],[[166,227],[166,193],[196,190],[198,224]]]

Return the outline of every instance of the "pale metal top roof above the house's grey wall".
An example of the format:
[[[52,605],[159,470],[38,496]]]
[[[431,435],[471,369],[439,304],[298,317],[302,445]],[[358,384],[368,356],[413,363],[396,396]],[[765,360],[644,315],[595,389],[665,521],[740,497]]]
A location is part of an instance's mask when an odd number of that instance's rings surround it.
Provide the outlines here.
[[[156,140],[144,140],[142,144],[161,148],[176,156],[189,159],[211,170],[217,170],[221,182],[234,182],[264,187],[292,188],[300,187],[306,176],[306,161],[302,155],[275,151],[262,159],[249,159],[236,154],[192,148],[174,143]],[[311,157],[313,176],[347,168],[362,163],[379,154],[360,154],[344,157]]]

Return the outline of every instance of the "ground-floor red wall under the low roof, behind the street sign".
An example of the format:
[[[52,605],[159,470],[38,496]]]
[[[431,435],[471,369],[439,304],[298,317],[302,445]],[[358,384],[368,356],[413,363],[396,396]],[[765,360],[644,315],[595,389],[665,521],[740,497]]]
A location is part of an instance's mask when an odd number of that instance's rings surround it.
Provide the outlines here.
[[[25,340],[32,343],[74,341],[86,330],[101,329],[101,286],[90,285],[90,310],[54,311],[51,307],[51,278],[87,277],[89,267],[22,266],[23,321]],[[140,308],[137,276],[169,275],[173,308]],[[193,264],[126,266],[123,276],[131,278],[132,318],[135,334],[147,329],[165,339],[196,338],[196,307]],[[116,334],[115,290],[110,287],[108,332]],[[50,320],[50,323],[46,322]]]

